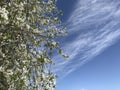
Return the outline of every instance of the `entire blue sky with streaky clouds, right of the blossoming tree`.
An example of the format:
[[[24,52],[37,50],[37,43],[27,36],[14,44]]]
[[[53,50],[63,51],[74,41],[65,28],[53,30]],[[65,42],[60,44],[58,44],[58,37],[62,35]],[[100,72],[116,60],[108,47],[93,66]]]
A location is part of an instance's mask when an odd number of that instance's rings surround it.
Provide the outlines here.
[[[120,1],[58,0],[70,58],[55,56],[56,90],[120,90]]]

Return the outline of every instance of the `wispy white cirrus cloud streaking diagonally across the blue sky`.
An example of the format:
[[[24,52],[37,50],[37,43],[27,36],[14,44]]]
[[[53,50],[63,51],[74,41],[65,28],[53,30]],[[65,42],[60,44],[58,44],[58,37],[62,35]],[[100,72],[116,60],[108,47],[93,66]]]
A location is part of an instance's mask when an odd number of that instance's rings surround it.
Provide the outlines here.
[[[56,72],[69,74],[120,39],[119,6],[119,0],[78,0],[62,41],[70,58],[54,57]]]

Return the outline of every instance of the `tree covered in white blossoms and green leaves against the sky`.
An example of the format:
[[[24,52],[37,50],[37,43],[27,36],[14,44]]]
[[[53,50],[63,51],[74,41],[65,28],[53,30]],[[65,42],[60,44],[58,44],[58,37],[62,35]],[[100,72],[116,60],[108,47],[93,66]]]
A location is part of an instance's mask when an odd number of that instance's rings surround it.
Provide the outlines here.
[[[55,38],[65,33],[59,13],[56,0],[0,0],[0,90],[55,88],[51,57],[62,53]]]

